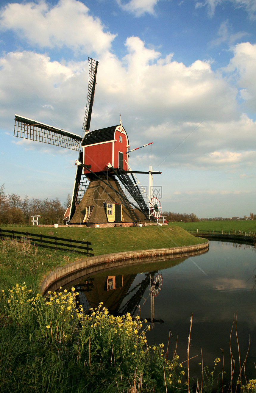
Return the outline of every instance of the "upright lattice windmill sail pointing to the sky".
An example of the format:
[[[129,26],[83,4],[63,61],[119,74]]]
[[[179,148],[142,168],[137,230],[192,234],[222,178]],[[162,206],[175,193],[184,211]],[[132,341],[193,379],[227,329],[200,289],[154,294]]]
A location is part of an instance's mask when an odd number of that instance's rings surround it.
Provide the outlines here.
[[[98,68],[98,61],[88,57],[89,61],[89,85],[88,85],[88,95],[87,103],[85,108],[85,119],[83,121],[83,130],[88,131],[90,129],[90,122],[92,116],[92,105],[94,100],[94,92],[96,85],[96,74]]]

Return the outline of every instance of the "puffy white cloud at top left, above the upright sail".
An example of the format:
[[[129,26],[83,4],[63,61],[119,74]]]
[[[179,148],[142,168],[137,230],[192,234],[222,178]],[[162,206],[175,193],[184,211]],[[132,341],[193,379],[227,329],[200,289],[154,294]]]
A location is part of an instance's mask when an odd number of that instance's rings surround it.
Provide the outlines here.
[[[0,29],[13,30],[39,48],[70,48],[75,53],[101,53],[109,50],[115,35],[105,31],[99,18],[76,0],[8,4],[0,13]]]

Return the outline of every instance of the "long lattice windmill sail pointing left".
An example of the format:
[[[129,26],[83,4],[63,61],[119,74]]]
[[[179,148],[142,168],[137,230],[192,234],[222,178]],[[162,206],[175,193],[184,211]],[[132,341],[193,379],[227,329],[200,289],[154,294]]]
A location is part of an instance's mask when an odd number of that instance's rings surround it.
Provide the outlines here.
[[[15,115],[14,135],[17,138],[48,143],[79,151],[82,138],[72,132],[64,131],[48,124]]]

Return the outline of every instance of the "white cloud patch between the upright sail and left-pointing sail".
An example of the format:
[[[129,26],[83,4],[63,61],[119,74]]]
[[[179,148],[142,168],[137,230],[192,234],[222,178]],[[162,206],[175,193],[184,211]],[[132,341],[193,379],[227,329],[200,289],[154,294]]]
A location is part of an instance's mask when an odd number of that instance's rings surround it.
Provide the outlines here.
[[[31,51],[4,55],[0,58],[2,127],[17,113],[46,124],[50,116],[57,127],[72,131],[82,122],[76,115],[86,102],[88,73],[84,68],[88,68],[87,61],[64,65]]]

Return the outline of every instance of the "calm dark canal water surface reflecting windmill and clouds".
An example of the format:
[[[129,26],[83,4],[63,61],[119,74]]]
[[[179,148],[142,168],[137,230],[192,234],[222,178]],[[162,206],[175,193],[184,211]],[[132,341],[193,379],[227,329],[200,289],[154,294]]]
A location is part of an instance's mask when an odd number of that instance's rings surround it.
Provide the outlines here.
[[[256,274],[255,249],[244,244],[210,242],[209,252],[176,261],[158,261],[109,270],[83,277],[72,285],[79,292],[85,310],[103,301],[114,315],[140,313],[151,323],[149,345],[163,342],[175,348],[180,360],[186,360],[190,318],[193,313],[190,355],[197,356],[191,367],[200,373],[201,349],[204,364],[222,358],[230,369],[230,331],[238,313],[237,334],[241,359],[250,348],[248,377],[255,377],[256,362]],[[68,286],[66,286],[68,288]],[[238,359],[238,345],[233,331],[233,356]],[[171,356],[171,354],[170,354]],[[237,360],[236,365],[239,362]]]

